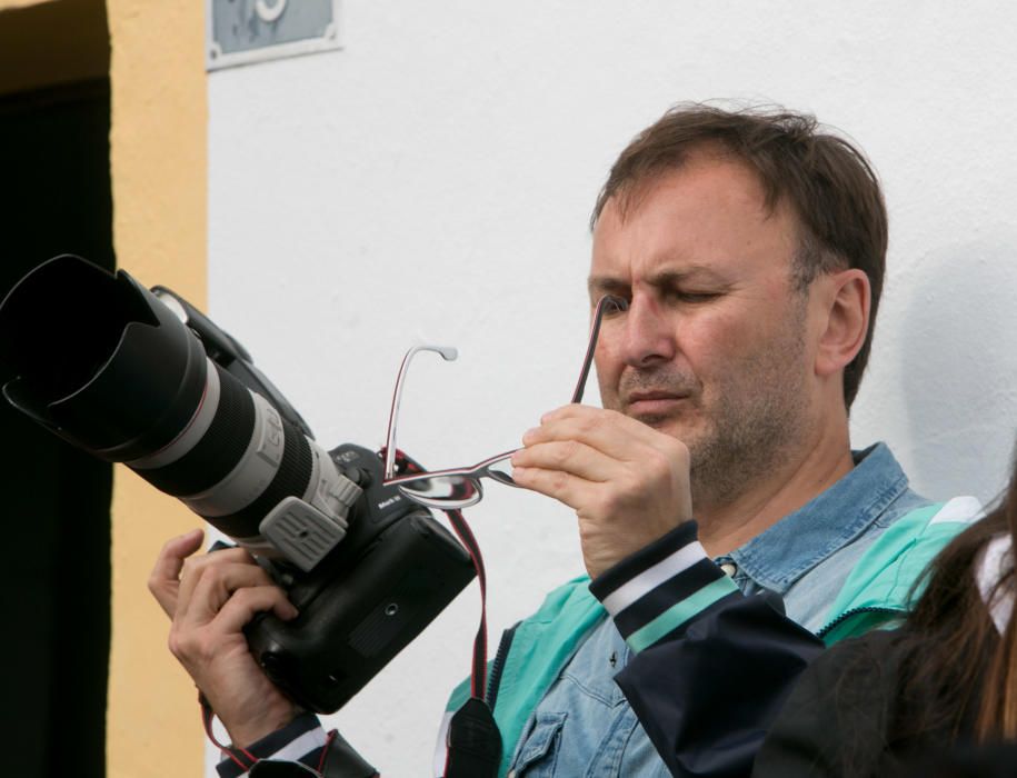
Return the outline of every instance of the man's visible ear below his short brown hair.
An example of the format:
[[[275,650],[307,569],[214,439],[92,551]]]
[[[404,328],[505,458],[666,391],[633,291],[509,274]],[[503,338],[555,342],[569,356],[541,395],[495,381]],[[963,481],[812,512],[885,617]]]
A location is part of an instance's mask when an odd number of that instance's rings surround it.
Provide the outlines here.
[[[816,375],[830,376],[844,370],[865,343],[871,310],[868,276],[858,268],[841,270],[817,279],[822,328],[816,349]]]

